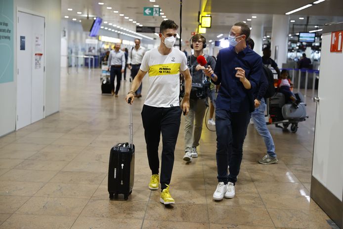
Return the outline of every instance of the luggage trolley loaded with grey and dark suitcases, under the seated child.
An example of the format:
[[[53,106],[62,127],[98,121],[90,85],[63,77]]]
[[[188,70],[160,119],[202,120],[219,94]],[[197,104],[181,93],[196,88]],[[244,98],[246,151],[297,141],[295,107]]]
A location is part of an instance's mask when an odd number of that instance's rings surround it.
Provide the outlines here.
[[[286,103],[283,93],[276,93],[268,98],[267,101],[267,125],[275,125],[275,127],[287,129],[291,125],[291,132],[298,131],[298,123],[303,122],[308,118],[306,115],[306,103],[304,103],[303,95],[298,92],[296,97],[300,99],[299,107],[296,108],[292,103]],[[282,124],[282,127],[279,125]]]

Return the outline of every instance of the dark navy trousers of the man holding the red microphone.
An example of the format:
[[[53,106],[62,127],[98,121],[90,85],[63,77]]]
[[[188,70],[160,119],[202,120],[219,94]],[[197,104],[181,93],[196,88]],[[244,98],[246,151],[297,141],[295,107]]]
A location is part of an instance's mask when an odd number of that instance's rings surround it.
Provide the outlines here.
[[[236,183],[243,156],[243,143],[250,120],[249,111],[230,112],[215,109],[215,130],[217,135],[218,182]],[[230,166],[227,175],[227,166]]]

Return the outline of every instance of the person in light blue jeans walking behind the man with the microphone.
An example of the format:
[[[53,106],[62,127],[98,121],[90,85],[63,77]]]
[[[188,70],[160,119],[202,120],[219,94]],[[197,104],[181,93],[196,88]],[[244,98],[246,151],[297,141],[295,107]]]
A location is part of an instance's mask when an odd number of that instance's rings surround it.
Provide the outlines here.
[[[247,39],[247,46],[249,46],[252,50],[254,49],[255,43],[253,39]],[[257,90],[254,93],[254,102],[255,102],[255,111],[251,113],[251,118],[254,122],[255,129],[257,130],[258,134],[263,137],[265,147],[267,148],[267,154],[260,160],[258,163],[260,164],[274,164],[278,162],[275,153],[275,144],[273,141],[273,137],[271,137],[270,132],[267,128],[267,124],[265,123],[264,119],[264,111],[266,108],[264,95],[267,92],[268,88],[268,78],[265,73],[273,74],[269,68],[266,66],[262,66],[263,71],[257,86]]]

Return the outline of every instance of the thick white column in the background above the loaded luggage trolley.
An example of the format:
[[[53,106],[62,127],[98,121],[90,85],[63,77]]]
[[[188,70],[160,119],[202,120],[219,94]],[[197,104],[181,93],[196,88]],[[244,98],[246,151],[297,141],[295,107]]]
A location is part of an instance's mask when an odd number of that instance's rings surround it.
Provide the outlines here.
[[[282,68],[282,64],[287,62],[289,21],[288,15],[273,15],[271,58],[275,60],[279,68]]]

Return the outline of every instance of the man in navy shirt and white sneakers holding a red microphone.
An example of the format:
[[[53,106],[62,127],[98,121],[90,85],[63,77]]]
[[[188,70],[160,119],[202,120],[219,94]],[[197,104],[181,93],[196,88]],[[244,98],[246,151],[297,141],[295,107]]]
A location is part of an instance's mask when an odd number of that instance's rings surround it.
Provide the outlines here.
[[[249,35],[247,24],[238,22],[232,26],[230,46],[219,51],[214,71],[211,66],[205,69],[214,84],[220,84],[215,102],[218,185],[214,200],[235,196],[250,112],[255,110],[253,93],[262,74],[262,59],[247,47]]]

